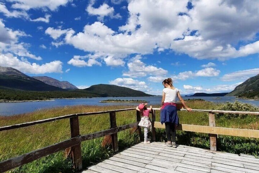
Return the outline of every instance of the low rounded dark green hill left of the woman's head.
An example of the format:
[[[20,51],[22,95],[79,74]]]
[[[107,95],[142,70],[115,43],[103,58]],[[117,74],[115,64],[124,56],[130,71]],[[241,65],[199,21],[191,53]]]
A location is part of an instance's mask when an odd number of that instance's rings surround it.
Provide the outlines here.
[[[92,94],[100,95],[101,97],[145,97],[152,96],[142,91],[120,87],[116,85],[99,84],[92,85],[89,88],[83,89]]]

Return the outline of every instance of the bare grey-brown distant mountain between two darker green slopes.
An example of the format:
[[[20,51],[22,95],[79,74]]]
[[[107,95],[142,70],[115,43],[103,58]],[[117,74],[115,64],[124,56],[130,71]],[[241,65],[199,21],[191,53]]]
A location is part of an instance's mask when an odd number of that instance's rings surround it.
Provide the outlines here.
[[[33,76],[33,78],[44,82],[45,84],[52,85],[62,89],[78,89],[75,85],[72,85],[68,81],[59,81],[47,76]]]

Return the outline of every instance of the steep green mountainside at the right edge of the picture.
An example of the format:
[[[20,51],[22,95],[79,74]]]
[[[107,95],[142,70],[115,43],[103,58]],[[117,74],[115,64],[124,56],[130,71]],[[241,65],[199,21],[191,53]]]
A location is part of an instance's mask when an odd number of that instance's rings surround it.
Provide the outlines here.
[[[227,96],[238,96],[245,99],[259,99],[259,74],[250,77],[242,84],[235,87],[235,89],[228,93]]]

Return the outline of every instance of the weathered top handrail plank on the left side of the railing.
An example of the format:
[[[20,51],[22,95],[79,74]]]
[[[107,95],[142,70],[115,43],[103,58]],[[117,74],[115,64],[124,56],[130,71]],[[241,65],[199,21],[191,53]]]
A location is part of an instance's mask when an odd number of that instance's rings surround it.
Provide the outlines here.
[[[127,108],[127,109],[118,109],[118,110],[111,110],[111,111],[99,111],[99,112],[87,112],[87,113],[80,113],[80,114],[63,115],[63,116],[54,117],[54,118],[48,118],[48,119],[42,119],[42,120],[38,120],[38,121],[25,122],[25,123],[21,123],[21,124],[14,124],[14,125],[10,125],[10,126],[0,127],[0,131],[17,129],[17,128],[21,128],[21,127],[32,126],[32,125],[35,125],[35,124],[52,122],[52,121],[56,121],[56,120],[66,119],[66,118],[72,118],[72,117],[76,117],[76,116],[98,115],[98,114],[106,114],[106,113],[110,113],[110,112],[130,111],[130,110],[134,110],[134,109],[136,109],[136,108]]]

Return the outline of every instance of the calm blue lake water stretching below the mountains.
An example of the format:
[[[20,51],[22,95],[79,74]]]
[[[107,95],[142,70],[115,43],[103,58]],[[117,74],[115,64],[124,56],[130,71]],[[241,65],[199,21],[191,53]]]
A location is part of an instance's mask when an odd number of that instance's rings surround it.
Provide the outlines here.
[[[221,102],[234,102],[238,100],[243,103],[250,103],[255,106],[259,106],[259,101],[256,100],[242,100],[235,99],[235,97],[220,97],[221,99],[215,99],[216,97],[183,97],[184,100],[187,99],[204,99],[207,101],[221,103]],[[0,103],[0,115],[10,116],[16,114],[22,114],[27,112],[32,112],[38,109],[45,109],[51,107],[62,107],[62,106],[72,106],[72,105],[132,105],[137,106],[138,103],[99,103],[101,100],[107,99],[121,99],[121,100],[146,100],[150,103],[148,104],[160,104],[162,96],[156,97],[105,97],[105,98],[83,98],[83,99],[55,99],[54,101],[43,101],[43,102],[21,102],[21,103]]]

